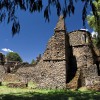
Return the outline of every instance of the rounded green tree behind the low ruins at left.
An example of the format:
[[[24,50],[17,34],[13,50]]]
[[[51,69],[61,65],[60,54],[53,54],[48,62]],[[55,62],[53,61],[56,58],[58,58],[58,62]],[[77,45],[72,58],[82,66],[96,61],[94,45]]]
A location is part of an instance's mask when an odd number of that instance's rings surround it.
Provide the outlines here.
[[[7,58],[8,61],[19,61],[19,62],[22,62],[22,59],[19,56],[19,54],[15,53],[15,52],[7,53],[6,58]]]

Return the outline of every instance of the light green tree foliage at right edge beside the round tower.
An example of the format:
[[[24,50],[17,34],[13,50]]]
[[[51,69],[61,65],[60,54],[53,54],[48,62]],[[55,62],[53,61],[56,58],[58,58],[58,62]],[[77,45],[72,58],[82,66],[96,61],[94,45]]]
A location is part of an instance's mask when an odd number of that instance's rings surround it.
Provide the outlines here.
[[[93,4],[96,8],[99,17],[97,20],[95,20],[96,19],[95,16],[93,15],[93,13],[91,13],[90,15],[87,16],[87,20],[89,26],[93,28],[95,32],[98,33],[98,35],[93,39],[93,43],[95,46],[100,48],[100,0],[94,1]]]

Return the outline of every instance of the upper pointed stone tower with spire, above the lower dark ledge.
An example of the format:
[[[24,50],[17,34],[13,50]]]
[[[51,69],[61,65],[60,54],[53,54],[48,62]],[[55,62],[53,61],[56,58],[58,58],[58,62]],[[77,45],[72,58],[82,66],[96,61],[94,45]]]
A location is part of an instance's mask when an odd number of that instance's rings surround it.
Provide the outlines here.
[[[54,28],[54,35],[48,42],[46,51],[44,52],[44,60],[65,60],[65,37],[66,28],[63,16],[59,17],[59,21]]]

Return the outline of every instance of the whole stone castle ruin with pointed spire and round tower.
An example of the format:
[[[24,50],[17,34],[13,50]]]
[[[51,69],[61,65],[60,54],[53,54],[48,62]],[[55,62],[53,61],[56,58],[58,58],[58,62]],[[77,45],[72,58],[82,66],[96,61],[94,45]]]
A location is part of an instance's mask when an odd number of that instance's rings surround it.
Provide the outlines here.
[[[32,80],[38,88],[78,89],[86,86],[97,90],[100,87],[98,59],[90,32],[76,30],[68,33],[64,18],[60,16],[54,35],[38,63],[20,65],[12,74]]]

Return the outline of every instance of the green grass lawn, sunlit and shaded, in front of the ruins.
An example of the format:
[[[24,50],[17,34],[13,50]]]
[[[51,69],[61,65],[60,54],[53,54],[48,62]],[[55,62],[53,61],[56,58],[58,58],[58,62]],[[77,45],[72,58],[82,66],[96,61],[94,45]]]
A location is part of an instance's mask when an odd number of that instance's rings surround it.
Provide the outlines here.
[[[0,86],[0,100],[100,100],[100,92],[70,90],[37,90]]]

